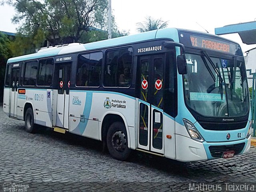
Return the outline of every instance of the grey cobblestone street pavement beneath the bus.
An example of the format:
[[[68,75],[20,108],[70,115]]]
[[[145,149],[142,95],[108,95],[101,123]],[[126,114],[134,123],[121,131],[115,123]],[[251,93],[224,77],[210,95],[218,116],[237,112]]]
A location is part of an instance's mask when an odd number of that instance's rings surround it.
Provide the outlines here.
[[[128,162],[102,152],[99,141],[24,122],[0,108],[0,191],[8,183],[29,184],[26,191],[188,191],[189,183],[256,184],[256,148],[231,159],[176,162],[134,151]],[[256,189],[255,189],[256,190]]]

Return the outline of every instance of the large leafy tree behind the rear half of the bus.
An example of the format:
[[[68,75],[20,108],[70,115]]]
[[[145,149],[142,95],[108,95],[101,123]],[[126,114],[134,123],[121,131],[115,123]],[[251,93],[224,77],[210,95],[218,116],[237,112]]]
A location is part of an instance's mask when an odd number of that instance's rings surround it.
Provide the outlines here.
[[[38,30],[52,46],[78,42],[90,27],[106,27],[108,0],[2,0],[16,9],[18,32],[37,36]]]

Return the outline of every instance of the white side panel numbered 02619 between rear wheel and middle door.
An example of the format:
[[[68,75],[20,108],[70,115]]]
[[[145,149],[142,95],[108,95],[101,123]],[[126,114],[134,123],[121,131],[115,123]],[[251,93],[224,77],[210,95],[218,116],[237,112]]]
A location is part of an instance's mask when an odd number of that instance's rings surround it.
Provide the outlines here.
[[[26,101],[34,106],[35,123],[52,127],[52,91],[50,89],[26,90]]]

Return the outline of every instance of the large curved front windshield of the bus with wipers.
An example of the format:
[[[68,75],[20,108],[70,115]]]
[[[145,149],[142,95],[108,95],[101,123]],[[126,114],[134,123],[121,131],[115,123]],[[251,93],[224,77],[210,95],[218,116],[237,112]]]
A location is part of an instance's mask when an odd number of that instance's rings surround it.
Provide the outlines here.
[[[188,73],[183,76],[189,109],[202,116],[230,118],[249,110],[244,61],[202,54],[185,54]]]

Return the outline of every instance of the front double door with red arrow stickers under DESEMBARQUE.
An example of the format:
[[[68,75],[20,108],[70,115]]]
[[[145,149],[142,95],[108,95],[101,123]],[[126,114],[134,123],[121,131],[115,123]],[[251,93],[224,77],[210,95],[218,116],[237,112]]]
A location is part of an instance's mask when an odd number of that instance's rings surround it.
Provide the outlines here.
[[[138,148],[164,155],[164,54],[140,56]]]

